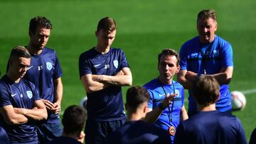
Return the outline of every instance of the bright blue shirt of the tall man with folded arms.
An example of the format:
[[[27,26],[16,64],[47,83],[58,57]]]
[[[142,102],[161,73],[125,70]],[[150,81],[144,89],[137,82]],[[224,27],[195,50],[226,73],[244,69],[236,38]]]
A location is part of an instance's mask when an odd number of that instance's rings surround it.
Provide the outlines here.
[[[233,67],[233,51],[230,43],[215,35],[212,43],[200,43],[199,37],[188,40],[181,46],[181,70],[198,74],[216,74],[223,67]],[[188,91],[188,111],[196,110],[196,101]],[[218,111],[228,111],[231,106],[231,94],[228,84],[220,85],[220,97],[216,103]]]

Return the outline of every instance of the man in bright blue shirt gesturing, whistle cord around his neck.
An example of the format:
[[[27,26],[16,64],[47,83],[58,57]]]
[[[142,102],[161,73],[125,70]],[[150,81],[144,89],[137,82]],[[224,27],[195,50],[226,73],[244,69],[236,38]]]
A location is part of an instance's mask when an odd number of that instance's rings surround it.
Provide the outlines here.
[[[171,143],[174,142],[180,120],[188,118],[184,106],[184,89],[174,81],[179,69],[178,52],[169,48],[162,50],[158,55],[159,77],[144,85],[150,94],[146,121],[168,131]]]

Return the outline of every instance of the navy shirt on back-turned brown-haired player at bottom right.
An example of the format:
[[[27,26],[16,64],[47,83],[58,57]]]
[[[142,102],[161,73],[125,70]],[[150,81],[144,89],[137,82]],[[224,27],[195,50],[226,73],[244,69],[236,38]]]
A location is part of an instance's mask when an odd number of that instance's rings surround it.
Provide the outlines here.
[[[200,111],[178,126],[175,143],[247,144],[242,124],[219,111]]]

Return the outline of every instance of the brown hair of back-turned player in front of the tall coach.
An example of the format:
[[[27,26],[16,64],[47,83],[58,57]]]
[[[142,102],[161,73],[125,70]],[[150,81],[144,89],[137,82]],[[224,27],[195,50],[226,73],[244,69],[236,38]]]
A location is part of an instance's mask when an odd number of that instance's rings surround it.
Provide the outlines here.
[[[214,77],[202,75],[193,85],[192,92],[198,104],[208,106],[217,101],[220,85]]]

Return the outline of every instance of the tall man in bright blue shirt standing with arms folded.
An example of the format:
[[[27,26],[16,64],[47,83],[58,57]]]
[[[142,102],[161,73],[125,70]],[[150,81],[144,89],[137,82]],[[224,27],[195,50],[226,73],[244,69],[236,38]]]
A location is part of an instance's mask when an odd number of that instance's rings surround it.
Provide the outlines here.
[[[228,84],[233,74],[233,51],[230,43],[215,35],[217,28],[215,11],[200,11],[197,18],[198,36],[181,46],[181,70],[177,79],[188,89],[188,116],[197,112],[191,89],[201,74],[215,77],[220,84],[220,97],[216,102],[218,111],[232,113]]]

